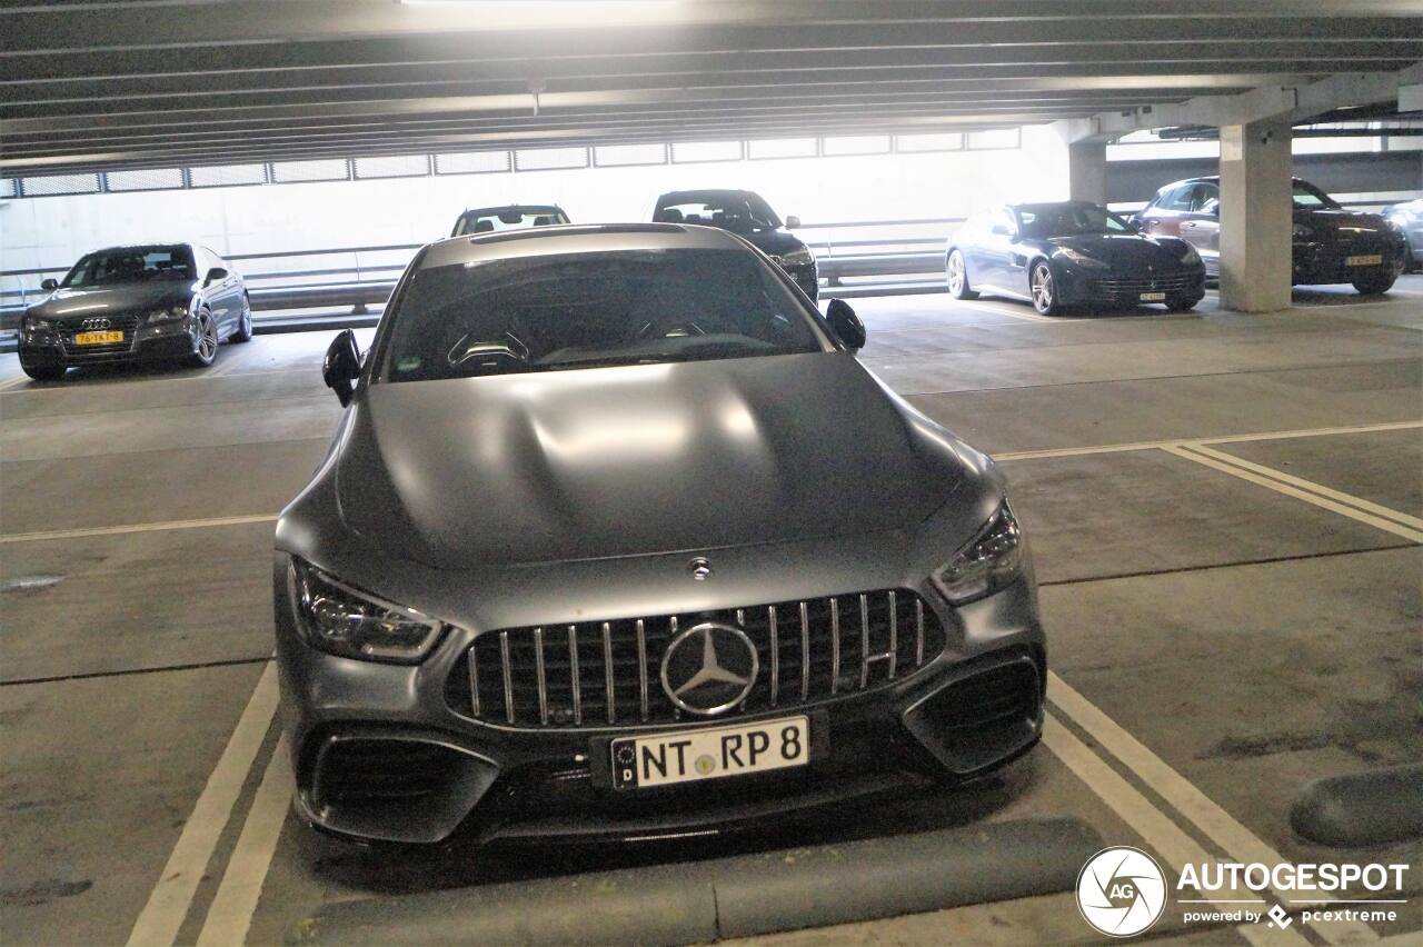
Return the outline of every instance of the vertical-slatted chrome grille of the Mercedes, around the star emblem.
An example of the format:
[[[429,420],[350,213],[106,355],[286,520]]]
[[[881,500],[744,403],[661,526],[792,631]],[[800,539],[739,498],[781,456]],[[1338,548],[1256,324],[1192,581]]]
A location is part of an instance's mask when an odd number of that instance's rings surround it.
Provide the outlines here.
[[[662,687],[662,657],[679,628],[703,621],[740,628],[760,661],[751,691],[721,718],[874,690],[914,673],[943,650],[943,627],[919,596],[904,589],[877,590],[490,631],[457,663],[445,697],[465,717],[524,728],[683,719],[689,715]]]

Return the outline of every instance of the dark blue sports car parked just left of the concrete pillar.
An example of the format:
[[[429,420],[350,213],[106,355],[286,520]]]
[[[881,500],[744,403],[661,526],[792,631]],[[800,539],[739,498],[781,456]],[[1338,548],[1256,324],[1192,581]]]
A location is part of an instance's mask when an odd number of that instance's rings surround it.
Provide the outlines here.
[[[970,218],[945,253],[949,293],[996,293],[1054,316],[1069,306],[1161,303],[1185,311],[1205,296],[1190,243],[1143,236],[1096,203],[1016,203]]]

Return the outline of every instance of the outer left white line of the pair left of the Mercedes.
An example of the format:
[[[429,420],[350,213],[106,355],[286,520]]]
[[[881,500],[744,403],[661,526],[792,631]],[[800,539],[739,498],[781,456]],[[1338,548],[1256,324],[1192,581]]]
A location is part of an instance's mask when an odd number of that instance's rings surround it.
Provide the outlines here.
[[[192,815],[184,823],[178,845],[174,846],[148,903],[134,923],[128,947],[169,947],[178,937],[184,917],[192,906],[198,882],[212,859],[232,808],[242,793],[252,762],[276,715],[276,665],[268,664],[248,700],[238,727],[232,731],[216,768],[208,776]]]

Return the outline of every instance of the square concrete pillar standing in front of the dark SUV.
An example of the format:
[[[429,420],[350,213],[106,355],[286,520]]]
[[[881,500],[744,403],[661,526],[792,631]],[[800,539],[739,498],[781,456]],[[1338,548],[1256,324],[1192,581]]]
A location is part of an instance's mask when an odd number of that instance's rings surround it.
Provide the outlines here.
[[[1242,313],[1289,307],[1291,128],[1265,121],[1221,127],[1221,306]]]

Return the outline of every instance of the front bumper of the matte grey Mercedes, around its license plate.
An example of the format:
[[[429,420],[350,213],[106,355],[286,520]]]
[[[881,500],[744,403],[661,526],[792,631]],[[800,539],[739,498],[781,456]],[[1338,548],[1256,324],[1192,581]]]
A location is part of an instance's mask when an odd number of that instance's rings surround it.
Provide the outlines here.
[[[457,714],[451,673],[474,636],[453,628],[418,665],[314,651],[296,633],[276,560],[277,661],[297,791],[314,826],[353,839],[650,839],[784,819],[878,792],[972,779],[1032,748],[1044,648],[1030,573],[949,609],[941,654],[882,687],[754,715],[676,725],[514,729]],[[811,764],[665,789],[616,791],[615,737],[811,718]]]

